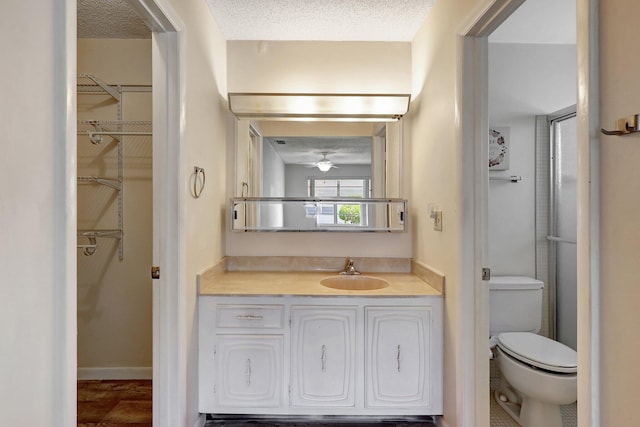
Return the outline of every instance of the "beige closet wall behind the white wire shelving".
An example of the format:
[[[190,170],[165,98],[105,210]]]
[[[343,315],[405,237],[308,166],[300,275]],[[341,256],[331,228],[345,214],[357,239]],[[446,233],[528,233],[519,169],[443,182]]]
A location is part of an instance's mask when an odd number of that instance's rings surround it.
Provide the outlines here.
[[[151,121],[151,40],[79,39],[78,73],[122,85],[121,118]],[[78,120],[115,120],[117,102],[78,95]],[[86,126],[78,126],[86,129]],[[147,126],[123,129],[150,130]],[[96,250],[78,249],[78,377],[151,378],[152,366],[152,143],[150,136],[122,136],[122,260],[117,239],[96,239]],[[117,177],[117,141],[92,144],[78,135],[78,176]],[[113,229],[117,191],[78,186],[78,229]],[[88,243],[79,239],[79,244]]]

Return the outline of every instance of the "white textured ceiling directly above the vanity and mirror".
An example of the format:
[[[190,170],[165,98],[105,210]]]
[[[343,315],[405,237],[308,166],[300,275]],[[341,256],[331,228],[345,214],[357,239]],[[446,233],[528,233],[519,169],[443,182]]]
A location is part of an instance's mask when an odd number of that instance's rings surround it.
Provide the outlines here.
[[[227,40],[411,41],[434,0],[207,0]]]

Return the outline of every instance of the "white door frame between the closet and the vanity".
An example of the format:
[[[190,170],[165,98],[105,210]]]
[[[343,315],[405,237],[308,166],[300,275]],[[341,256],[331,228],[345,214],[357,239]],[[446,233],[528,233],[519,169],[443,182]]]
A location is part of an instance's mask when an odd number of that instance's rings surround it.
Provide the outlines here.
[[[132,0],[152,31],[153,87],[153,426],[187,419],[185,271],[186,195],[183,175],[184,25],[168,0]]]

